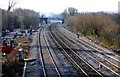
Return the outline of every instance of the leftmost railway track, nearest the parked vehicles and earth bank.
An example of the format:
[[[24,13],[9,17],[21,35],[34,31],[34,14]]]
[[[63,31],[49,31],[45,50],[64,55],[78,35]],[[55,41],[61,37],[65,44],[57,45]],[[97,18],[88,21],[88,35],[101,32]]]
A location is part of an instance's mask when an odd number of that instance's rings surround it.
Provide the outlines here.
[[[57,65],[51,55],[51,51],[48,46],[48,42],[45,36],[45,28],[39,35],[40,56],[45,77],[61,77],[61,74],[57,68]]]

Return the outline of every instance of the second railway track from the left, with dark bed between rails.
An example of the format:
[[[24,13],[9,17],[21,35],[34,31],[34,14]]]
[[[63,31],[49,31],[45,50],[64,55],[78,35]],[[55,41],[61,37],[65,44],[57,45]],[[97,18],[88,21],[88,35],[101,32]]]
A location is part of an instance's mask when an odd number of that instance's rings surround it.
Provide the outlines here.
[[[78,56],[72,49],[70,49],[62,40],[59,39],[58,36],[56,36],[52,31],[50,33],[51,37],[54,40],[57,40],[56,43],[59,44],[59,46],[64,50],[64,53],[67,54],[71,62],[77,67],[79,67],[79,71],[84,73],[86,76],[100,76],[102,77],[102,74],[97,72],[91,65],[89,65],[86,61],[84,61],[80,56]],[[59,41],[59,43],[58,43]],[[64,46],[64,48],[63,48]],[[66,48],[65,48],[66,47]],[[86,69],[87,68],[87,69]]]

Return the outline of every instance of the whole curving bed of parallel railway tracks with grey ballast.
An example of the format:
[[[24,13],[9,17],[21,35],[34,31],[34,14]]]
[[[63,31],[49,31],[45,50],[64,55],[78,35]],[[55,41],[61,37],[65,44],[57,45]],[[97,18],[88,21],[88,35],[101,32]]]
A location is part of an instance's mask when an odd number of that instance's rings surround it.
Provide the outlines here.
[[[78,39],[58,23],[42,25],[36,39],[37,66],[42,69],[36,77],[120,77],[119,55],[82,37]],[[23,77],[29,70],[25,69]]]

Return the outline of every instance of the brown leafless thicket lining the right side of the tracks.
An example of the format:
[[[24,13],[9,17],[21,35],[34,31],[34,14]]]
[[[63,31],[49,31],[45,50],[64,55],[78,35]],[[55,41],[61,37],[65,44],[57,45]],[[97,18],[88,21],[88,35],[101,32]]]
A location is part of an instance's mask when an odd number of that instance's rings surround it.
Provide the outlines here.
[[[79,13],[69,10],[69,8],[64,10],[62,16],[66,18],[67,27],[70,31],[84,35],[115,51],[120,51],[120,14]],[[74,12],[74,14],[70,15],[70,12]]]

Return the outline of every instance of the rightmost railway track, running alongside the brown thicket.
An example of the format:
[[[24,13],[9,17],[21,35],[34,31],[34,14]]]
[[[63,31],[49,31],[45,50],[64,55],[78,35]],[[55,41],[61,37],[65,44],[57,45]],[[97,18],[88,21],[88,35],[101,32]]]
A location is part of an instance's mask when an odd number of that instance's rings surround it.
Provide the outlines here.
[[[62,28],[62,29],[64,29],[64,28]],[[64,32],[65,32],[65,31],[68,32],[69,34],[71,34],[72,36],[74,36],[73,38],[76,37],[73,33],[69,32],[68,30],[64,29]],[[76,39],[76,38],[75,38],[75,39]],[[94,49],[94,50],[102,53],[104,56],[109,57],[109,58],[111,58],[112,60],[115,60],[115,61],[117,61],[117,62],[120,62],[120,55],[117,54],[117,53],[115,53],[115,52],[113,52],[113,51],[110,51],[110,50],[105,49],[105,48],[103,48],[103,47],[101,48],[101,47],[98,46],[97,44],[92,44],[92,43],[90,43],[89,41],[86,42],[86,41],[84,40],[84,38],[79,38],[79,40],[77,39],[77,41],[78,41],[78,42],[82,42],[84,45],[87,45],[89,48],[92,48],[92,49]],[[112,61],[112,60],[111,60],[111,61]]]

